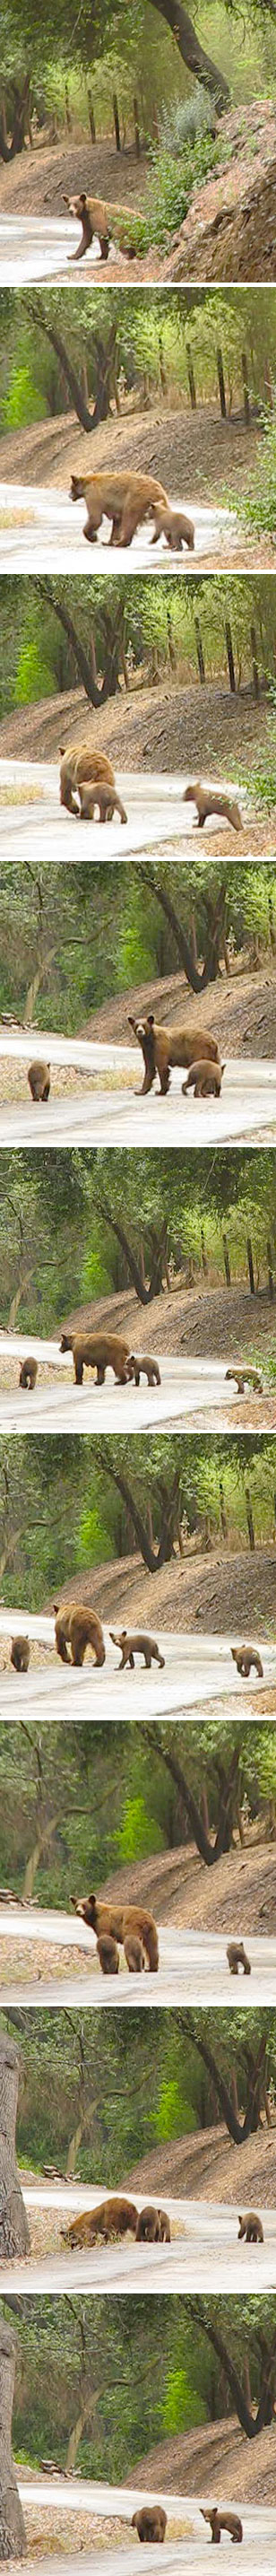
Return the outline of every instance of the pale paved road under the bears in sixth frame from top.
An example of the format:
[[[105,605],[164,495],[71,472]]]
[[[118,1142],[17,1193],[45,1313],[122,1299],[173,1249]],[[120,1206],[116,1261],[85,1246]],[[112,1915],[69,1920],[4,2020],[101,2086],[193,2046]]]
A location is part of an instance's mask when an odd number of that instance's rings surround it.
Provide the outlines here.
[[[41,1649],[54,1646],[54,1618],[39,1618],[39,1613],[18,1607],[0,1607],[0,1636],[8,1638],[8,1654],[10,1636],[36,1638]],[[129,1716],[147,1721],[183,1721],[196,1710],[199,1716],[217,1716],[217,1708],[222,1718],[230,1718],[230,1723],[232,1718],[255,1716],[255,1677],[250,1674],[248,1682],[240,1682],[237,1667],[232,1664],[232,1646],[237,1643],[235,1636],[201,1636],[199,1631],[181,1636],[178,1631],[173,1633],[168,1628],[157,1628],[165,1672],[160,1672],[160,1664],[152,1664],[152,1672],[144,1672],[142,1662],[134,1664],[134,1672],[119,1672],[119,1649],[111,1643],[106,1623],[103,1638],[106,1664],[98,1672],[90,1659],[83,1664],[83,1672],[75,1672],[72,1664],[64,1667],[57,1654],[52,1664],[44,1664],[41,1654],[41,1667],[28,1664],[28,1672],[23,1674],[13,1672],[8,1664],[8,1672],[0,1672],[0,1718],[21,1718],[28,1713],[28,1718],[39,1716],[39,1723],[46,1718],[67,1723],[67,1716],[70,1723],[77,1718],[101,1718],[103,1723],[116,1718],[119,1723],[119,1718]],[[261,1649],[263,1662],[266,1721],[266,1690],[271,1690],[271,1685],[276,1687],[276,1646],[271,1638],[263,1643],[258,1636],[255,1646]]]

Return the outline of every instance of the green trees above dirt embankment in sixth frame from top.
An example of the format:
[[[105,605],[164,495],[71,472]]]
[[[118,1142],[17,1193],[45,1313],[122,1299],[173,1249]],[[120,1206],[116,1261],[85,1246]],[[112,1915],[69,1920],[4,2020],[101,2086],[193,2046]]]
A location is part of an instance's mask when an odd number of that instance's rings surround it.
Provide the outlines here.
[[[119,1440],[90,1440],[88,1435],[83,1440],[72,1435],[67,1440],[0,1440],[0,1584],[5,1607],[18,1595],[18,1607],[26,1602],[28,1610],[46,1610],[57,1597],[57,1582],[59,1592],[67,1587],[67,1597],[75,1584],[80,1597],[85,1577],[85,1600],[93,1597],[98,1610],[106,1602],[111,1615],[119,1615],[119,1602],[134,1600],[139,1584],[139,1602],[144,1600],[147,1613],[152,1607],[157,1620],[163,1584],[168,1584],[165,1613],[175,1597],[175,1615],[168,1618],[168,1625],[181,1628],[186,1625],[186,1574],[191,1574],[193,1602],[201,1600],[201,1613],[204,1574],[209,1574],[212,1602],[219,1597],[219,1618],[212,1615],[212,1631],[232,1625],[230,1615],[222,1615],[224,1597],[230,1605],[235,1602],[237,1628],[237,1579],[245,1605],[253,1579],[255,1625],[268,1623],[273,1633],[273,1440],[152,1435],[147,1445],[144,1437],[134,1435],[132,1461],[124,1435]],[[119,1569],[121,1584],[116,1589]],[[188,1625],[193,1625],[191,1615]]]

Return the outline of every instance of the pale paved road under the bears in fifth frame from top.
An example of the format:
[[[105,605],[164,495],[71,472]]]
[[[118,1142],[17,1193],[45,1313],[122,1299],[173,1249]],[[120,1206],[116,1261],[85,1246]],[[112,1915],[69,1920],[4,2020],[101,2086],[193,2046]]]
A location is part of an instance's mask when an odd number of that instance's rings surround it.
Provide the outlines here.
[[[139,1334],[137,1334],[139,1345]],[[34,1360],[46,1360],[54,1370],[52,1386],[34,1386],[34,1391],[18,1386],[18,1365],[10,1388],[0,1388],[0,1430],[8,1432],[67,1432],[85,1430],[95,1432],[98,1422],[103,1432],[121,1432],[121,1386],[113,1376],[106,1376],[106,1386],[95,1386],[95,1378],[83,1378],[75,1386],[72,1355],[59,1350],[59,1342],[39,1342],[36,1334],[5,1334],[0,1332],[0,1360],[21,1363],[26,1355]],[[129,1383],[124,1388],[124,1414],[129,1432],[155,1432],[155,1430],[181,1430],[186,1432],[196,1417],[204,1430],[235,1430],[235,1404],[237,1388],[227,1386],[222,1360],[175,1360],[160,1358],[160,1386]],[[266,1394],[266,1388],[263,1388]],[[276,1396],[268,1394],[268,1430],[276,1427]],[[245,1394],[245,1430],[255,1430],[255,1396]]]

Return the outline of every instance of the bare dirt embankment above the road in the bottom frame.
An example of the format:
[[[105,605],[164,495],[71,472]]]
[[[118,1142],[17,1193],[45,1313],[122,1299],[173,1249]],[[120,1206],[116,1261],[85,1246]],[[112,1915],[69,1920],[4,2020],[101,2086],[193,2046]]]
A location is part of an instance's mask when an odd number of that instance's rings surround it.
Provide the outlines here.
[[[173,2491],[178,2496],[227,2496],[242,2504],[276,2504],[276,2424],[248,2442],[237,2416],[219,2416],[217,2424],[199,2424],[191,2432],[168,2434],[155,2442],[142,2460],[132,2460],[126,2486]]]

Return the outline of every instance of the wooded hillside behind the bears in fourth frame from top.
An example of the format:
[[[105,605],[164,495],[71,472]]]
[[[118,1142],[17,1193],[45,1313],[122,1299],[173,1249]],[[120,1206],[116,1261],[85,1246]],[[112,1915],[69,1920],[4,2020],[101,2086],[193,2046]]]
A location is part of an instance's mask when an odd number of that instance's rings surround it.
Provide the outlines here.
[[[129,1046],[129,999],[134,1015],[155,1007],[175,1023],[186,992],[206,994],[204,1028],[222,1061],[224,1051],[276,1056],[273,866],[0,868],[0,1036],[15,1020],[18,1030]],[[144,1074],[142,1056],[137,1066]]]

